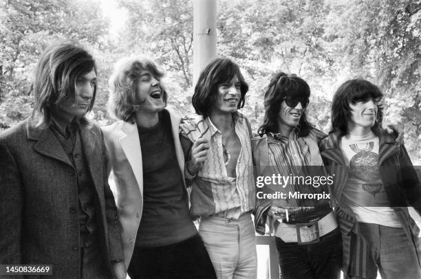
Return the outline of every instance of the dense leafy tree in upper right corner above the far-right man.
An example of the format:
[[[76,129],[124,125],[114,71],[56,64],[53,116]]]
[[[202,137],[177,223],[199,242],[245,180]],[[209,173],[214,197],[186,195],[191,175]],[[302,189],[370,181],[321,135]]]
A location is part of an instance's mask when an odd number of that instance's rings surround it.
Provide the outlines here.
[[[385,93],[387,120],[404,125],[409,154],[421,163],[421,1],[332,2],[328,37],[337,64]],[[348,74],[348,76],[352,77]]]

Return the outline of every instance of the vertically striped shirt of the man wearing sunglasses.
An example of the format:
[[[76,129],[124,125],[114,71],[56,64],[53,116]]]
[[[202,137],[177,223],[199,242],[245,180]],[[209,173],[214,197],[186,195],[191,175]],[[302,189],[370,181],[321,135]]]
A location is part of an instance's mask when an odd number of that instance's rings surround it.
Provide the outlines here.
[[[311,129],[310,134],[305,137],[298,136],[299,131],[294,129],[289,137],[280,134],[268,133],[263,136],[253,137],[253,155],[257,167],[258,177],[282,177],[325,175],[323,161],[319,153],[317,142],[325,137],[321,131]],[[255,226],[259,234],[265,234],[266,214],[272,204],[277,206],[302,207],[301,212],[294,217],[298,223],[306,223],[316,217],[324,216],[331,211],[329,200],[316,199],[294,199],[288,197],[288,192],[301,192],[308,194],[330,192],[325,186],[313,187],[300,183],[268,183],[259,192],[273,194],[283,192],[286,199],[264,199],[263,196],[257,199],[255,210]],[[275,235],[281,223],[276,222],[274,227]]]

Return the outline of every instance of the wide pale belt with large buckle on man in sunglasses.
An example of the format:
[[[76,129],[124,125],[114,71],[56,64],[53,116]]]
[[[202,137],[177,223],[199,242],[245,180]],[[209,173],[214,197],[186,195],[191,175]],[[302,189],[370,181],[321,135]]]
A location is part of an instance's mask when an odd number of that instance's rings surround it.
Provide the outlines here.
[[[330,212],[322,219],[308,223],[277,223],[275,236],[285,243],[296,242],[301,245],[319,243],[321,236],[332,232],[338,227],[334,212]]]

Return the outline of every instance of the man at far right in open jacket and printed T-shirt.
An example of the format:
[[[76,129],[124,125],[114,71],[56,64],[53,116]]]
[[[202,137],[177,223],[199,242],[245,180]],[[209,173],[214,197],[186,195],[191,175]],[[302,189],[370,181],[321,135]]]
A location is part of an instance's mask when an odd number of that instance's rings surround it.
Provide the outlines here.
[[[421,278],[421,186],[407,150],[382,129],[383,94],[371,82],[344,82],[332,100],[332,131],[321,142],[336,175],[334,197],[347,278]]]

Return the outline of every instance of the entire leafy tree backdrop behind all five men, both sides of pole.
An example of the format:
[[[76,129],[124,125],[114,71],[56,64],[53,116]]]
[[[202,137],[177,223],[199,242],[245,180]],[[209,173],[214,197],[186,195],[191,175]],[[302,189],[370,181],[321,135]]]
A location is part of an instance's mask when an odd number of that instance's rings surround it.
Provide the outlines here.
[[[169,103],[193,111],[192,0],[118,0],[127,21],[117,40],[108,36],[98,2],[0,3],[0,129],[31,107],[34,63],[56,38],[75,38],[94,49],[100,69],[90,115],[95,121],[109,122],[106,80],[112,65],[133,54],[158,60],[167,74]],[[249,84],[241,111],[253,131],[263,121],[263,94],[275,72],[294,73],[309,83],[310,120],[324,131],[330,128],[334,90],[359,76],[385,93],[385,118],[404,126],[415,164],[421,163],[420,34],[420,0],[217,0],[217,53],[238,63]]]

